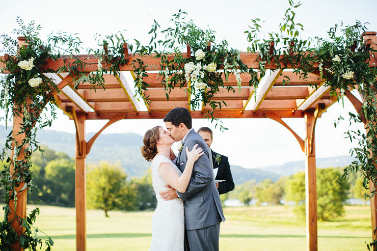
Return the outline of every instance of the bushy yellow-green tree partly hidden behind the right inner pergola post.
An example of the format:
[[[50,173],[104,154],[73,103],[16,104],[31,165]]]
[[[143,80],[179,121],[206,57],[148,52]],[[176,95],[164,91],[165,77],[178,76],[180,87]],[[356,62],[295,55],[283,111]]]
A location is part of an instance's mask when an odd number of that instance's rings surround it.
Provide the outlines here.
[[[348,182],[339,184],[338,169],[317,169],[317,215],[318,219],[331,220],[344,212],[343,204],[347,200]],[[305,173],[292,175],[286,183],[285,198],[296,203],[295,211],[305,215]]]

